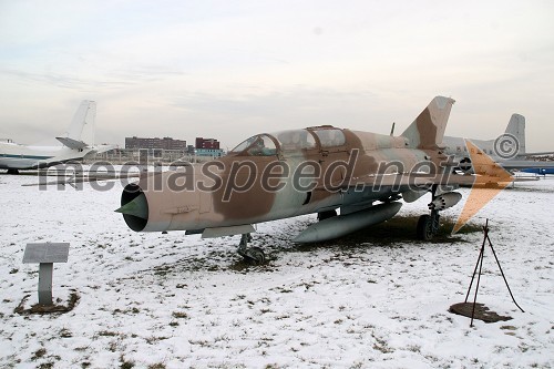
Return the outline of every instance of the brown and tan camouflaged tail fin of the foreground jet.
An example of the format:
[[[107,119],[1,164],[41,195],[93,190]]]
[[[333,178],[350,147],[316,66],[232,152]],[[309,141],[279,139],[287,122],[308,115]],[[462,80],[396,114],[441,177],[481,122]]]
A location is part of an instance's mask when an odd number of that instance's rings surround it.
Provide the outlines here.
[[[409,140],[410,147],[439,147],[454,102],[450,98],[437,96],[429,103],[401,135]]]

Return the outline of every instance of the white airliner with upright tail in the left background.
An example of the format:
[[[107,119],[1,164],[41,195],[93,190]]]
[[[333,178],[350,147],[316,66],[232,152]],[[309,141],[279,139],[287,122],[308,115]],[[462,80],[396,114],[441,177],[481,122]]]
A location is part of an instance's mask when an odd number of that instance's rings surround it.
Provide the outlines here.
[[[37,170],[60,163],[81,161],[86,155],[103,153],[115,145],[94,145],[96,103],[83,101],[63,136],[55,137],[59,146],[21,145],[11,141],[0,142],[0,168],[9,174],[19,170]]]

